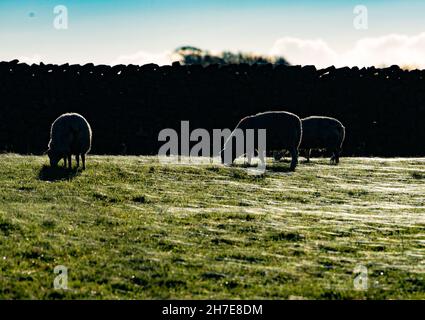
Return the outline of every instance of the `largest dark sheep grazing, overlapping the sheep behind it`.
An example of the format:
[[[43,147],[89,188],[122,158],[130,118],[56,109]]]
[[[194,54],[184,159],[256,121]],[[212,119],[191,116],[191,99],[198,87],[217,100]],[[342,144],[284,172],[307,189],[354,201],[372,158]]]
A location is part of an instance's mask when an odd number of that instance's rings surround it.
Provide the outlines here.
[[[256,115],[248,116],[239,121],[236,129],[246,132],[247,129],[266,129],[266,151],[270,153],[274,150],[288,150],[291,153],[292,161],[290,169],[295,170],[298,163],[298,147],[301,143],[302,126],[301,119],[290,112],[286,111],[267,111]],[[235,130],[224,144],[224,148],[220,153],[221,162],[232,164],[233,161],[243,153],[237,150],[232,143]],[[246,137],[246,134],[244,134]],[[254,135],[255,136],[255,135]],[[224,160],[225,150],[232,147],[231,162]],[[254,154],[247,154],[248,162]]]

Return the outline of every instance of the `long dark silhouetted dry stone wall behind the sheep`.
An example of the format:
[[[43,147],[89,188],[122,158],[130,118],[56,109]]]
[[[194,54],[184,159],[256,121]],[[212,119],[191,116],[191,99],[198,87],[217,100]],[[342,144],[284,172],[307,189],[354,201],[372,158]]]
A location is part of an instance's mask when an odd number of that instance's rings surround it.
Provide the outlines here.
[[[78,112],[92,153],[156,154],[164,128],[230,128],[287,110],[346,126],[343,155],[425,155],[425,71],[306,66],[158,67],[0,63],[0,150],[40,154],[50,124]]]

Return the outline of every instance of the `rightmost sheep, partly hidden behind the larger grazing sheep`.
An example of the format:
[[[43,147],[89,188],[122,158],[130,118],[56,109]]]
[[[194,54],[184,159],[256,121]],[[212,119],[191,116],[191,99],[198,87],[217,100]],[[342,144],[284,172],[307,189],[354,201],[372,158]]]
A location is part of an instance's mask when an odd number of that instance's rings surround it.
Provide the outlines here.
[[[302,119],[303,138],[300,149],[306,150],[307,162],[311,149],[332,152],[331,163],[339,163],[339,154],[345,138],[345,127],[337,119],[311,116]]]

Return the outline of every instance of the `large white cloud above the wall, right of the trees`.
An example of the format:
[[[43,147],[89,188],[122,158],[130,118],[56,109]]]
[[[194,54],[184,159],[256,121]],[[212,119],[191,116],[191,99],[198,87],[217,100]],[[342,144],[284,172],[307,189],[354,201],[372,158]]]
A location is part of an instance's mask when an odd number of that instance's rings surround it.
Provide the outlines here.
[[[321,39],[286,37],[277,40],[270,53],[282,55],[292,64],[313,64],[317,67],[397,64],[425,69],[425,32],[415,36],[390,34],[363,38],[346,52],[336,52]]]

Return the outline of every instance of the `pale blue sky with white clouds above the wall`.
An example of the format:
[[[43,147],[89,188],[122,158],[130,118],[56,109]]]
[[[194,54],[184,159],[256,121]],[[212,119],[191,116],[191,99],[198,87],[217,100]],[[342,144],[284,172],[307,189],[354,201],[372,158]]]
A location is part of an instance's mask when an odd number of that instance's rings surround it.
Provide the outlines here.
[[[191,45],[425,68],[424,14],[423,0],[0,0],[0,60],[162,65]]]

